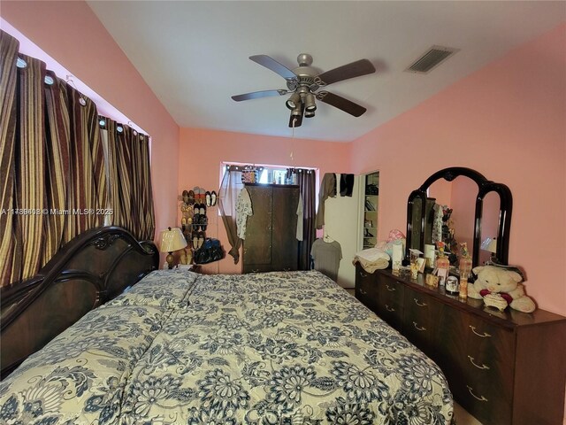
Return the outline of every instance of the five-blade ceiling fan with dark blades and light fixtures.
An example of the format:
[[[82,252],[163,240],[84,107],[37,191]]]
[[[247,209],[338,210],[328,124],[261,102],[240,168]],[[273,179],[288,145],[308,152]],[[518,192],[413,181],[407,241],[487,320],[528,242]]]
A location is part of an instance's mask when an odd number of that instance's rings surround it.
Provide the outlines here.
[[[255,55],[249,58],[257,64],[265,66],[275,73],[279,73],[279,75],[287,81],[287,89],[254,91],[233,96],[233,100],[241,102],[242,100],[256,99],[259,97],[285,96],[291,94],[291,97],[289,97],[286,102],[287,108],[291,110],[289,127],[300,127],[303,116],[305,118],[315,116],[315,111],[317,110],[315,98],[341,111],[348,112],[355,117],[359,117],[366,111],[363,106],[355,104],[344,97],[334,95],[324,89],[318,91],[318,89],[328,86],[333,82],[360,77],[368,73],[375,73],[375,66],[373,66],[368,59],[356,60],[356,62],[339,66],[325,73],[318,73],[318,71],[311,66],[312,56],[308,53],[301,53],[297,57],[299,66],[293,70],[279,64],[278,61],[267,55]]]

